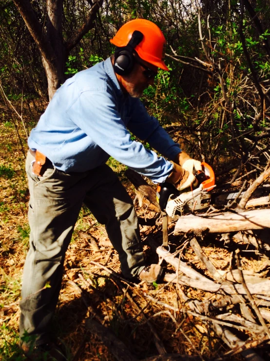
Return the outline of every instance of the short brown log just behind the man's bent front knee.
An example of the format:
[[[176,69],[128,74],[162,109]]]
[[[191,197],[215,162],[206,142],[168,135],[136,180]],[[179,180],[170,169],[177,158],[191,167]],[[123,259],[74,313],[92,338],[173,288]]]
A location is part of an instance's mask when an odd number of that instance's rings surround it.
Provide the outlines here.
[[[138,198],[140,196],[145,197],[148,200],[148,202],[146,202],[147,207],[153,209],[155,212],[160,212],[160,207],[156,200],[156,191],[149,186],[142,176],[131,169],[126,170],[125,175],[137,190]]]

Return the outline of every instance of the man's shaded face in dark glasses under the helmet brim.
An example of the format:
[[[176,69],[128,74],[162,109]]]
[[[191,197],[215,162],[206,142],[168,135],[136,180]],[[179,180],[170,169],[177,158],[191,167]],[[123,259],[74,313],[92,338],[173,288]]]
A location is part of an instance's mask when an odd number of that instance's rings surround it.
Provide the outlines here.
[[[140,98],[144,89],[154,84],[154,75],[157,74],[158,70],[156,66],[142,59],[139,59],[138,62],[135,61],[134,68],[129,75],[123,76],[122,82],[126,91],[133,98]]]

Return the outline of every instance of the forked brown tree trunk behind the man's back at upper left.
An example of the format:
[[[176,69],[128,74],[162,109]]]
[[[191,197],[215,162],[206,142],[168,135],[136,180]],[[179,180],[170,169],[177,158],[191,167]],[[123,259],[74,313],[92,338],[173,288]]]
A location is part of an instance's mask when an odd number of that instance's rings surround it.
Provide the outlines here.
[[[64,67],[68,53],[77,45],[83,35],[93,28],[97,11],[103,0],[94,3],[83,26],[66,42],[62,36],[63,0],[47,0],[45,30],[44,24],[42,20],[39,22],[30,0],[13,1],[38,46],[47,76],[49,100],[51,100],[58,87],[66,79]]]

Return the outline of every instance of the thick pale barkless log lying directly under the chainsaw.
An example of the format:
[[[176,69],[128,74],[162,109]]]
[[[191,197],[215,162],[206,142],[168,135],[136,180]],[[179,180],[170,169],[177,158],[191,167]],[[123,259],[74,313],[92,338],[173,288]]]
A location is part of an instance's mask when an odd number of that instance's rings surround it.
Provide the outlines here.
[[[238,232],[270,228],[270,209],[247,212],[225,212],[218,215],[183,215],[179,217],[174,234],[198,232],[209,229],[210,233]]]

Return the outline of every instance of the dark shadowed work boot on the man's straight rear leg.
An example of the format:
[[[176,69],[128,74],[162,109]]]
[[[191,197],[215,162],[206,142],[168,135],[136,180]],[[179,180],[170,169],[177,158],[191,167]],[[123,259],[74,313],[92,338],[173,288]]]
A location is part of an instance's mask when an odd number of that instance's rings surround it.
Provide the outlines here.
[[[39,346],[29,347],[23,343],[21,349],[27,356],[27,360],[33,361],[67,361],[67,355],[63,347],[55,343],[44,343]]]

